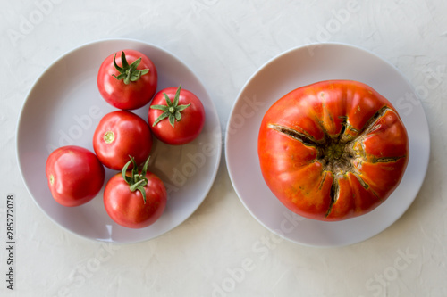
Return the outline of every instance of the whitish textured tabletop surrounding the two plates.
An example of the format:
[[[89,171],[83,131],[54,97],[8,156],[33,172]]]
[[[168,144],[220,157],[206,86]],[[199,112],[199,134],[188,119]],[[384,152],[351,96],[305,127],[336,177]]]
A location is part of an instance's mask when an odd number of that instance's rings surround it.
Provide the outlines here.
[[[447,296],[444,0],[3,0],[0,34],[0,295]],[[426,181],[392,227],[342,248],[274,243],[232,189],[224,158],[205,202],[173,231],[128,245],[72,235],[27,193],[15,155],[16,124],[49,63],[106,37],[139,39],[178,56],[207,87],[223,130],[240,88],[275,55],[325,41],[366,48],[419,91],[431,133]],[[14,292],[5,282],[10,193],[16,197]]]

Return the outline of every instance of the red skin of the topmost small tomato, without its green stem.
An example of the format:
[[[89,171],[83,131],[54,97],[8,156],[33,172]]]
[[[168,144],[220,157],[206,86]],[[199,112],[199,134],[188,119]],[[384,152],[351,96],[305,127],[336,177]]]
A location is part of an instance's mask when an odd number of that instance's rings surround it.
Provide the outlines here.
[[[114,55],[116,54],[116,64],[122,67],[122,51],[110,54],[105,58],[99,67],[97,73],[97,87],[99,93],[107,103],[122,110],[135,110],[147,103],[156,94],[156,86],[158,83],[158,74],[156,66],[148,56],[136,50],[126,49],[126,60],[129,64],[141,57],[141,62],[137,70],[148,69],[149,72],[142,75],[139,80],[131,82],[129,85],[124,84],[122,80],[118,80],[113,75],[118,76],[119,71],[114,67]]]

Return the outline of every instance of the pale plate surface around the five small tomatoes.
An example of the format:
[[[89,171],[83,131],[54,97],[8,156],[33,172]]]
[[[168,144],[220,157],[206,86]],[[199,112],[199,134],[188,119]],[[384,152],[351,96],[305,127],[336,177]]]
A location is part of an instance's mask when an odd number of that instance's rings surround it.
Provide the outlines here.
[[[158,88],[181,87],[198,95],[206,124],[190,144],[154,142],[150,170],[164,180],[168,202],[163,216],[143,229],[120,227],[105,212],[104,190],[91,202],[67,208],[52,198],[45,176],[46,158],[56,147],[75,144],[93,152],[93,132],[105,113],[115,111],[97,91],[97,70],[106,56],[135,49],[155,63]],[[148,120],[148,105],[133,111]],[[17,156],[25,185],[41,210],[74,234],[105,242],[135,243],[177,227],[198,208],[212,186],[221,157],[220,122],[205,87],[179,59],[154,45],[129,39],[102,40],[64,54],[38,78],[22,107]],[[106,180],[117,171],[106,169]],[[106,182],[105,180],[105,182]]]

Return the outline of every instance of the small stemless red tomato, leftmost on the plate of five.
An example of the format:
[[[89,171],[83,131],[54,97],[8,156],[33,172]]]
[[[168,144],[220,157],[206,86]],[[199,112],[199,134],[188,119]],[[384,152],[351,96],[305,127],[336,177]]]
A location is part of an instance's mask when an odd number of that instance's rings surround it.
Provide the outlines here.
[[[89,202],[104,184],[103,165],[80,146],[63,146],[50,153],[45,170],[51,194],[63,206]]]

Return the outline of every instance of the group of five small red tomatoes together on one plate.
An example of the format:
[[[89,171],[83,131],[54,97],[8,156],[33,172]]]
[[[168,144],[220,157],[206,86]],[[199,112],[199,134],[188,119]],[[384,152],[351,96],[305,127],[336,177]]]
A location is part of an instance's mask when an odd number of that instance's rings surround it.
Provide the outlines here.
[[[148,171],[156,139],[188,144],[202,131],[205,109],[198,97],[180,87],[156,93],[158,74],[147,55],[126,49],[105,58],[97,73],[100,95],[117,110],[107,113],[93,136],[94,153],[63,146],[46,161],[51,194],[63,206],[92,200],[105,182],[105,167],[120,170],[103,195],[105,210],[123,227],[148,227],[161,217],[167,202],[164,182]],[[148,121],[132,110],[148,107]]]

